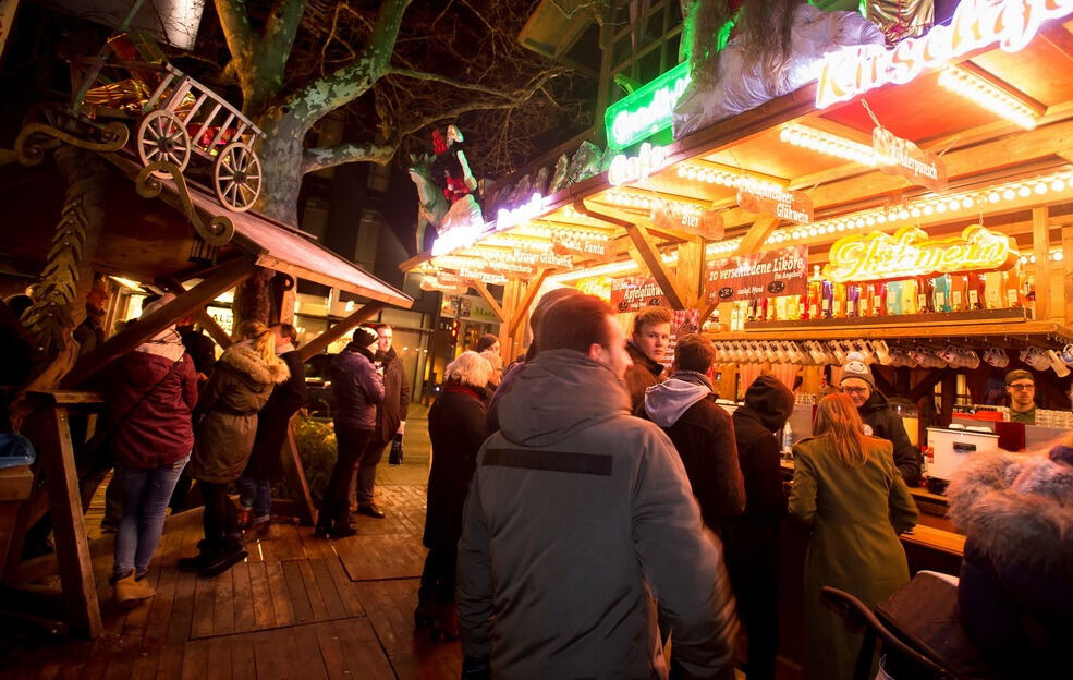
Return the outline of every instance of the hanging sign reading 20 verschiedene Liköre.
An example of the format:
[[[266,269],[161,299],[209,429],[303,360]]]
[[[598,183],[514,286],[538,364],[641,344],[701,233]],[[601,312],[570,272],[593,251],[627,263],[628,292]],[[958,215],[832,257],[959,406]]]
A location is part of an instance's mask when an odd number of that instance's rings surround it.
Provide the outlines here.
[[[804,295],[808,246],[734,255],[705,263],[704,290],[709,303]]]

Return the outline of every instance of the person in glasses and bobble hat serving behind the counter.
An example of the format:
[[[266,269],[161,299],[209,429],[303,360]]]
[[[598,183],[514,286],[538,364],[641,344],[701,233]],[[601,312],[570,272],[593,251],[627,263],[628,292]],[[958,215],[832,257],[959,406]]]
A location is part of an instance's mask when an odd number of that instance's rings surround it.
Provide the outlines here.
[[[902,474],[905,484],[919,486],[924,457],[905,434],[901,416],[887,402],[882,392],[876,389],[871,369],[859,354],[850,353],[850,361],[842,366],[839,389],[857,408],[861,420],[864,421],[864,434],[886,439],[894,446],[894,466]]]

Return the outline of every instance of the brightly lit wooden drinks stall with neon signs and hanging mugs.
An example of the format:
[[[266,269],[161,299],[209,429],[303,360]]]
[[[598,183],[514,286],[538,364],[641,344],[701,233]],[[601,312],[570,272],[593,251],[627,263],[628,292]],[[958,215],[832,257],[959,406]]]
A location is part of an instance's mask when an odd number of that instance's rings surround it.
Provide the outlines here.
[[[1073,7],[1011,26],[971,16],[975,5],[963,2],[934,36],[842,54],[819,82],[667,146],[635,143],[602,173],[498,206],[495,221],[443,234],[403,267],[430,289],[486,299],[502,284],[504,357],[524,343],[538,290],[574,286],[621,312],[695,313],[684,318],[717,343],[717,390],[732,400],[747,386],[740,372],[777,364],[796,364],[816,393],[839,352],[882,342],[898,360],[869,356],[880,389],[914,403],[937,394],[934,424],[984,403],[988,379],[1014,367],[1033,369],[1054,425],[1068,423],[1066,362],[1025,359],[1061,357],[1073,342]],[[920,68],[899,73],[883,61],[892,53]],[[927,264],[915,269],[906,254]],[[979,288],[956,299],[912,288],[901,314],[870,304],[869,287],[902,295],[889,284],[950,275]],[[858,298],[834,309],[817,300],[809,314],[814,282]],[[941,361],[948,347],[968,361]],[[1009,361],[986,361],[1000,354]],[[944,497],[914,495],[923,519],[903,537],[911,567],[956,573],[964,538],[943,518]],[[798,543],[784,546],[782,576],[800,623]],[[800,627],[784,622],[783,639],[800,658]]]

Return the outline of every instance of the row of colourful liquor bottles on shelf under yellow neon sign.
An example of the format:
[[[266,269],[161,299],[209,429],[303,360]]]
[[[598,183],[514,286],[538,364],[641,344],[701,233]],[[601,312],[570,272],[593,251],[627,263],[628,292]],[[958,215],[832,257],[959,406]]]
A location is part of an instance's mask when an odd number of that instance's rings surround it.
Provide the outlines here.
[[[720,319],[739,331],[746,321],[783,321],[819,318],[855,318],[899,314],[931,314],[971,309],[1008,309],[1035,306],[1032,277],[1020,268],[1008,271],[916,277],[871,283],[827,281],[814,268],[804,295],[748,300],[722,309]]]

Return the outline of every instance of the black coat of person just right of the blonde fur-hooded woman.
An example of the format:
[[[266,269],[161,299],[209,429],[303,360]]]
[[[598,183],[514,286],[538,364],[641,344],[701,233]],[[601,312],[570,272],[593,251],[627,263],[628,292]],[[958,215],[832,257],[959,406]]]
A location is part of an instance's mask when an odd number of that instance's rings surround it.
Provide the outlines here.
[[[272,389],[265,408],[257,414],[257,436],[245,472],[247,476],[255,479],[276,479],[283,474],[283,459],[280,457],[280,451],[283,441],[286,440],[286,430],[291,427],[291,416],[304,406],[307,400],[302,353],[290,350],[279,357],[286,363],[291,377]]]

